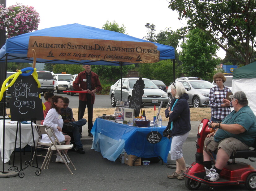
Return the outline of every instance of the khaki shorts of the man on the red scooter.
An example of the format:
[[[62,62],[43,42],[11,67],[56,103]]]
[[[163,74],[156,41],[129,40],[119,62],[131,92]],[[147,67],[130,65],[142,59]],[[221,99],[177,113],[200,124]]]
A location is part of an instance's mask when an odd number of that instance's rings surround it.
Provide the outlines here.
[[[206,151],[205,144],[210,140],[210,138],[205,138],[204,151]],[[222,148],[228,154],[229,157],[232,155],[233,152],[236,153],[236,151],[249,150],[248,145],[244,144],[243,142],[236,138],[229,137],[219,141],[219,143],[215,142],[214,138],[212,138],[210,144],[208,144],[207,146],[207,152],[214,152],[217,149],[219,150],[219,148]]]

